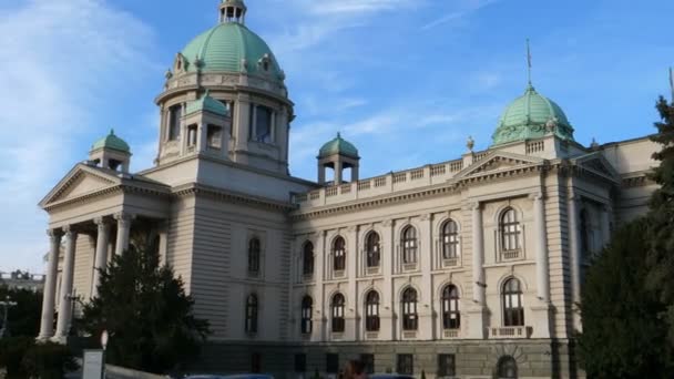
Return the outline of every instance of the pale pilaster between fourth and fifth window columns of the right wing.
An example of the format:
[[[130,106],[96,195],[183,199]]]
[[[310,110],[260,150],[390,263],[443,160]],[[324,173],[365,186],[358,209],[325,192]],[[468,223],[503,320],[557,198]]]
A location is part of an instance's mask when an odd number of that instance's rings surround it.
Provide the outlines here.
[[[419,263],[421,265],[421,307],[419,311],[420,339],[435,339],[436,326],[433,322],[433,285],[431,275],[431,259],[433,249],[431,214],[422,215],[420,228]]]

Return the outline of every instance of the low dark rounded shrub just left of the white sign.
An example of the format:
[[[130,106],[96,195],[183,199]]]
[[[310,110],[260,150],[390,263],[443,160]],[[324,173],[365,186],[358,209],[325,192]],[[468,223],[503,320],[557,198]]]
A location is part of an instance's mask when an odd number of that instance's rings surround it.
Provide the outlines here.
[[[22,361],[31,378],[60,379],[68,371],[78,369],[72,351],[59,344],[40,344],[30,348]]]

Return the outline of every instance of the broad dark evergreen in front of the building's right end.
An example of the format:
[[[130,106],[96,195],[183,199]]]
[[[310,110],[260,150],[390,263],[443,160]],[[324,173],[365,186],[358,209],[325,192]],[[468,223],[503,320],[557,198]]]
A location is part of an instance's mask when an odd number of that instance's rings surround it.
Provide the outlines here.
[[[581,365],[589,378],[672,378],[665,322],[655,294],[645,286],[649,269],[646,223],[623,226],[590,267],[582,290]]]

